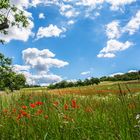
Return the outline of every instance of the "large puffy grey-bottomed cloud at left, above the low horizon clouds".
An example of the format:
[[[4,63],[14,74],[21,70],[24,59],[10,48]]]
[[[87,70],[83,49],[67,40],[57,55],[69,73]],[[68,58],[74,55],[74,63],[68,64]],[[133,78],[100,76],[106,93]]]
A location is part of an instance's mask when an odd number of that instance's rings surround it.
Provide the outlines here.
[[[28,48],[22,52],[26,65],[31,66],[37,72],[48,72],[51,67],[61,68],[68,65],[67,62],[52,58],[55,55],[47,49],[38,50]]]

